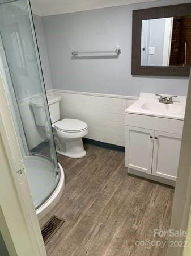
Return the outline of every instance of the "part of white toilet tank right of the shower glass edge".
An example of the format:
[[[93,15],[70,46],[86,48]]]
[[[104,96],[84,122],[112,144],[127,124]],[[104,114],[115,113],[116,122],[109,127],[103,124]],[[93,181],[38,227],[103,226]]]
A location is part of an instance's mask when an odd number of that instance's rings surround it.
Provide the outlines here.
[[[60,120],[61,96],[56,94],[49,94],[47,96],[47,100],[48,100],[51,122],[55,123],[56,121]]]

